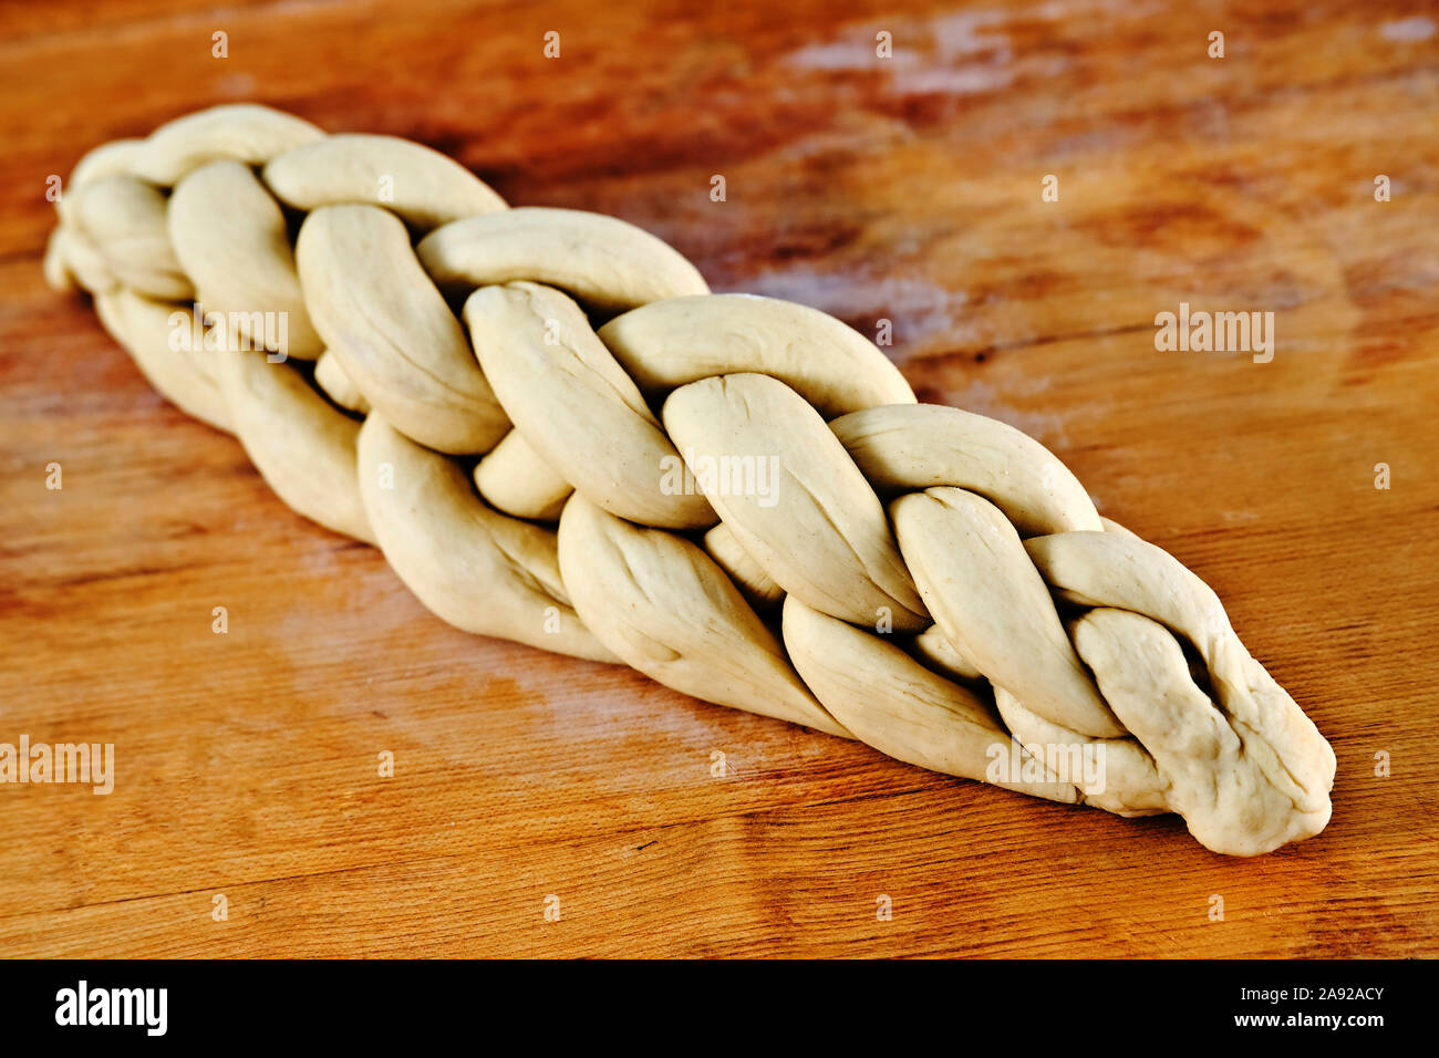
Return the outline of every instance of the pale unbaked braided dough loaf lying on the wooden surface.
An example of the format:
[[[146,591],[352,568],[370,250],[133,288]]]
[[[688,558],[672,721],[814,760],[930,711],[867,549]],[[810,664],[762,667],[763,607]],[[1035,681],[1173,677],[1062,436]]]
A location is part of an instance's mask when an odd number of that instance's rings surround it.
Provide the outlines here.
[[[52,285],[458,628],[1177,812],[1216,852],[1330,819],[1334,753],[1215,593],[823,312],[712,295],[622,220],[508,209],[426,147],[263,107],[99,147],[58,206]],[[177,348],[201,311],[223,348]],[[1065,774],[1082,754],[1102,774]]]

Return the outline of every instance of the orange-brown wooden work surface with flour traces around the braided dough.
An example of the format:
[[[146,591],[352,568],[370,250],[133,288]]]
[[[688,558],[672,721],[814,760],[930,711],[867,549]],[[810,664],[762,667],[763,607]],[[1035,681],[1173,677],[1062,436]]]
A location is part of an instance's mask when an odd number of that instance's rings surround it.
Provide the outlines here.
[[[109,796],[0,786],[0,954],[1436,953],[1433,4],[0,19],[0,741],[117,761]],[[715,289],[892,320],[922,400],[1027,430],[1219,592],[1334,744],[1330,828],[1223,858],[1176,818],[931,774],[432,618],[43,285],[49,174],[249,99],[622,216]],[[1274,361],[1157,351],[1181,301],[1272,311]]]

